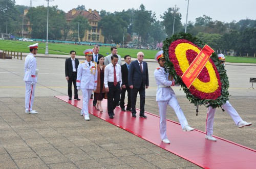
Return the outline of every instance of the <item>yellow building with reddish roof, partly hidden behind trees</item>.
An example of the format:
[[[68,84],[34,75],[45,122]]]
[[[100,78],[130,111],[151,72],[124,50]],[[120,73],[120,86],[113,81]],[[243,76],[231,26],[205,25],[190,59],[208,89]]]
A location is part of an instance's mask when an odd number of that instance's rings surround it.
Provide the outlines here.
[[[101,19],[99,13],[96,10],[92,11],[92,9],[89,9],[89,11],[77,11],[76,9],[72,9],[68,13],[66,13],[66,19],[68,23],[77,16],[86,17],[89,24],[92,26],[91,31],[86,31],[86,34],[84,35],[82,41],[104,43],[104,36],[101,35],[102,30],[100,27],[98,27],[98,22]],[[73,32],[70,31],[69,35],[72,33]]]

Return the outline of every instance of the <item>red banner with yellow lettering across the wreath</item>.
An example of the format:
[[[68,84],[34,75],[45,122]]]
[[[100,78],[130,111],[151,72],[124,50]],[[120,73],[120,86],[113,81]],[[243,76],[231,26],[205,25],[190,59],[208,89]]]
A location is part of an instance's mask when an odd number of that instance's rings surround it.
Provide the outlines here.
[[[212,52],[214,52],[214,50],[210,48],[210,46],[204,45],[203,49],[199,52],[195,60],[189,65],[187,70],[181,76],[188,89],[208,62]]]

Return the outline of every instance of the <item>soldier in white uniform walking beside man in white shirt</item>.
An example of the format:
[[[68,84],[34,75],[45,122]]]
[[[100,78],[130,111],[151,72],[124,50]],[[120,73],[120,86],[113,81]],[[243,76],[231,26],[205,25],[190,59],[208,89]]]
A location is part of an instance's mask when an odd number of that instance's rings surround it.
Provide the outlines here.
[[[84,120],[90,120],[88,111],[88,102],[93,90],[97,86],[97,63],[92,62],[93,50],[83,51],[86,61],[80,62],[77,68],[76,86],[77,90],[82,90],[82,110],[81,115]]]

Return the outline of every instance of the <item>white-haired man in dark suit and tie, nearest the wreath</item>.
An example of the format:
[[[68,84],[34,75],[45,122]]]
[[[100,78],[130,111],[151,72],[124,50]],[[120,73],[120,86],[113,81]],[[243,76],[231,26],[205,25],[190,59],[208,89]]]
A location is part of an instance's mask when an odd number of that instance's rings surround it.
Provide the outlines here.
[[[148,69],[147,63],[142,62],[144,57],[143,52],[138,52],[137,60],[130,64],[129,69],[129,86],[131,88],[132,100],[132,116],[136,118],[136,100],[137,94],[140,94],[140,117],[147,118],[144,115],[145,111],[145,89],[148,88]]]

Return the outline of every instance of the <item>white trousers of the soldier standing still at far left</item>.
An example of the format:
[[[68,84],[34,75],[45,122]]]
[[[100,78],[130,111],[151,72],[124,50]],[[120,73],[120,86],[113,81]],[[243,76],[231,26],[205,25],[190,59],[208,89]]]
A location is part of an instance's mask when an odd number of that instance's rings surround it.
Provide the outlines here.
[[[26,111],[31,111],[33,102],[34,102],[36,84],[31,85],[31,81],[25,81],[25,84],[26,84],[25,108],[26,108]]]

